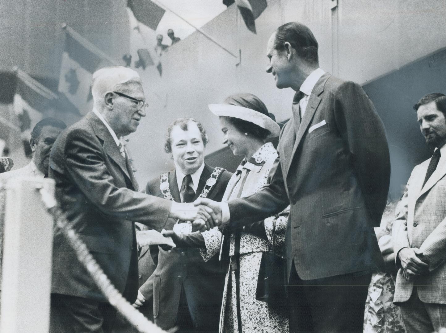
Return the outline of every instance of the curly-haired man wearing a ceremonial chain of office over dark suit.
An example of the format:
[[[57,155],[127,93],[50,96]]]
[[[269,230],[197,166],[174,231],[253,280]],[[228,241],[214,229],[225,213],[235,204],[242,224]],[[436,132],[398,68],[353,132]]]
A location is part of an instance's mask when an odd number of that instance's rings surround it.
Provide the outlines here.
[[[206,131],[195,119],[172,122],[164,150],[172,154],[175,170],[149,181],[146,193],[183,203],[199,196],[221,201],[231,173],[204,163],[207,140]],[[168,219],[165,229],[177,230],[176,222]],[[217,332],[227,263],[220,262],[218,255],[205,262],[198,249],[191,248],[205,247],[200,233],[172,236],[178,248],[165,251],[151,246],[157,268],[140,287],[136,302],[142,307],[153,302],[154,322],[162,329],[178,325],[180,331]]]

